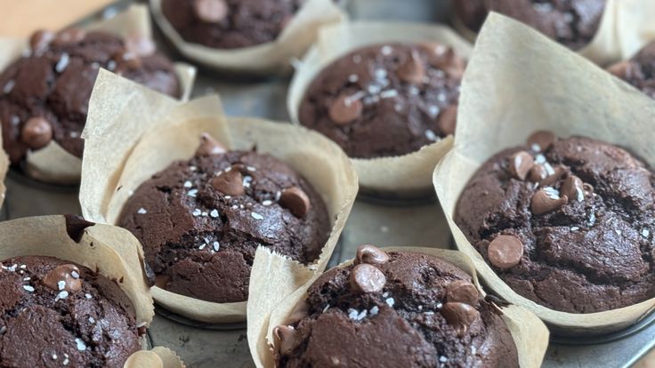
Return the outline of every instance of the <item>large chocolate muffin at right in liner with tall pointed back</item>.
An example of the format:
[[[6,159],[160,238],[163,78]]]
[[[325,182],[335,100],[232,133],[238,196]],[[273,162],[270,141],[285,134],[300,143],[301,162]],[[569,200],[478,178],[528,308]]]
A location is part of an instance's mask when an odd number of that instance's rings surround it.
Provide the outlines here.
[[[655,175],[626,150],[537,132],[482,164],[455,222],[514,292],[562,312],[655,297]]]

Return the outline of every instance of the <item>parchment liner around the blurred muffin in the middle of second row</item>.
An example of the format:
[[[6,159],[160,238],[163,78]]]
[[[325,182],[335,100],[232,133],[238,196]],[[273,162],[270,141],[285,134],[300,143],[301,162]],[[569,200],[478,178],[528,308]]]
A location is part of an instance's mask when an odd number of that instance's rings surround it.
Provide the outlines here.
[[[332,61],[370,44],[427,41],[449,44],[465,59],[468,59],[472,50],[471,44],[444,26],[356,22],[321,28],[316,44],[296,67],[289,86],[287,108],[291,121],[300,124],[298,109],[305,90],[319,72]],[[452,147],[452,141],[452,136],[449,136],[403,156],[352,158],[352,164],[360,176],[360,190],[373,196],[385,197],[433,196],[431,172],[441,156]]]

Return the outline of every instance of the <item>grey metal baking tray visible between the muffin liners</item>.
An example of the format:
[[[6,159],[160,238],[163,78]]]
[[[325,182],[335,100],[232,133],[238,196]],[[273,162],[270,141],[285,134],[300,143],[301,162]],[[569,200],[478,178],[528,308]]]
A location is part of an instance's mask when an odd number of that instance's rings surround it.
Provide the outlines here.
[[[129,4],[121,1],[99,14],[115,13]],[[448,23],[448,0],[349,0],[352,19],[412,20]],[[90,17],[93,20],[99,15]],[[181,60],[156,33],[159,47]],[[230,116],[261,116],[286,121],[286,78],[235,80],[200,68],[193,96],[219,93]],[[37,183],[11,171],[7,180],[7,199],[0,220],[54,213],[79,213],[77,188]],[[399,205],[362,197],[352,208],[339,246],[330,265],[354,256],[359,244],[390,246],[411,244],[434,246],[450,244],[449,229],[439,204],[433,200]],[[157,308],[150,326],[153,346],[174,349],[189,367],[252,367],[245,324],[205,325]],[[643,318],[627,330],[589,339],[554,336],[544,367],[629,367],[655,347],[655,315]]]

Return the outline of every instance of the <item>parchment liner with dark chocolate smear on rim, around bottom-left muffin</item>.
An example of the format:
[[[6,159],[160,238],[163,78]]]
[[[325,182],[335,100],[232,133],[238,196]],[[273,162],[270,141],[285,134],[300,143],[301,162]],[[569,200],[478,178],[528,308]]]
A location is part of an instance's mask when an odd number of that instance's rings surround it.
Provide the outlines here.
[[[85,228],[79,242],[67,232],[64,216],[29,217],[0,222],[0,260],[17,256],[38,255],[71,260],[101,275],[116,280],[118,286],[132,300],[137,324],[150,325],[155,311],[148,292],[148,283],[142,271],[141,244],[129,231],[109,225],[96,224]],[[162,368],[183,367],[182,361],[167,348],[154,348]],[[157,367],[138,364],[148,358],[150,351],[130,356],[126,367]],[[174,359],[177,358],[177,360]]]

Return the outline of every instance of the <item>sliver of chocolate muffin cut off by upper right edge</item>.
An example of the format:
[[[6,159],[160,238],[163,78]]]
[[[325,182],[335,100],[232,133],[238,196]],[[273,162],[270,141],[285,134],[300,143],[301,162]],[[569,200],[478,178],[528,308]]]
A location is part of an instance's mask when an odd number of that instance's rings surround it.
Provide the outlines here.
[[[614,64],[608,71],[655,99],[655,42],[645,45],[632,59]]]

